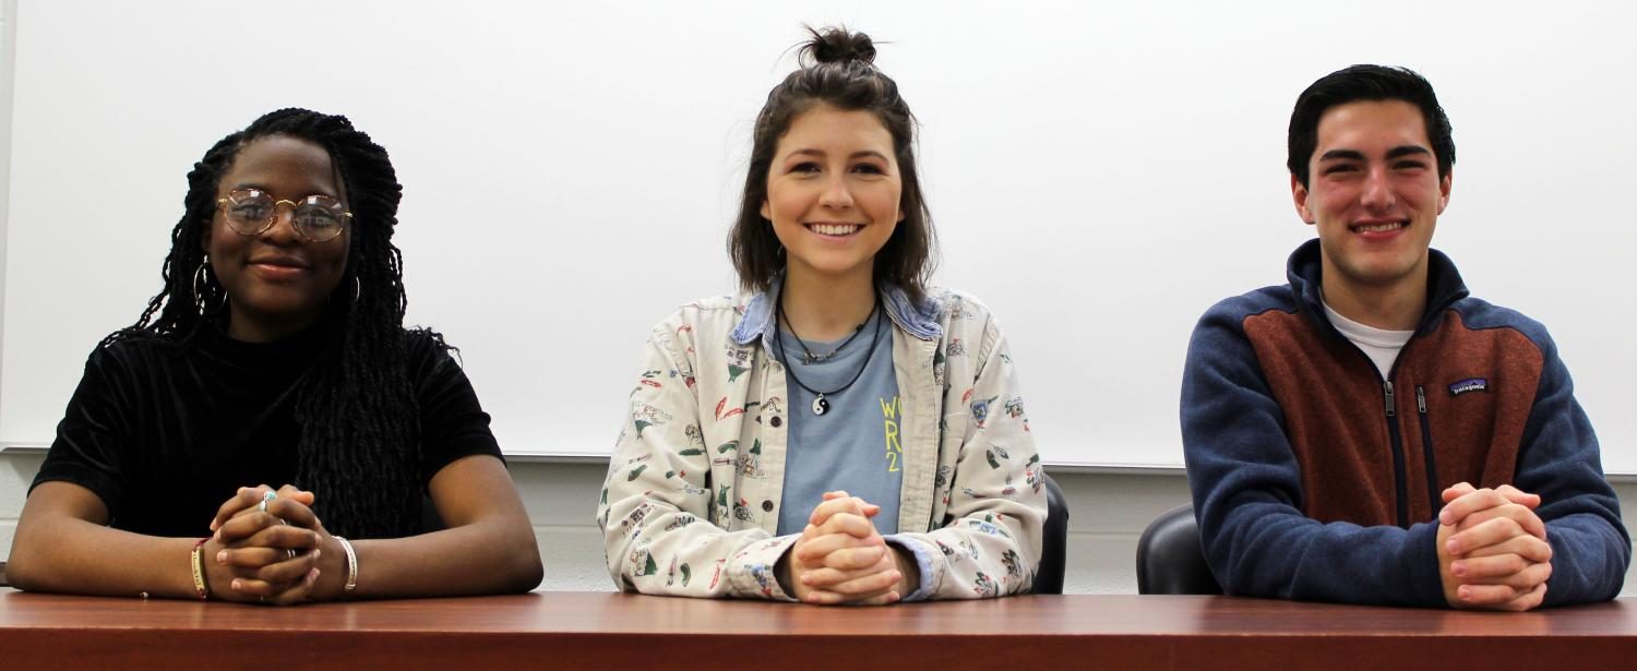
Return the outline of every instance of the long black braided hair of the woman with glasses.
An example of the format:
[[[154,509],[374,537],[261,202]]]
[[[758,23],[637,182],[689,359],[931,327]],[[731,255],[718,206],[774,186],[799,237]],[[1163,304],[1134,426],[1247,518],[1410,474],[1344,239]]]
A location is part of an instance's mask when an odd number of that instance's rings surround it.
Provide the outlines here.
[[[157,339],[185,349],[228,299],[200,245],[216,211],[216,188],[239,151],[255,139],[286,136],[329,152],[352,209],[347,270],[329,301],[326,345],[298,391],[296,486],[313,491],[324,527],[349,537],[401,537],[421,524],[421,424],[404,363],[403,254],[393,245],[403,187],[386,155],[345,116],[278,110],[223,137],[188,172],[185,211],[170,232],[164,290],[136,324],[101,345]]]

